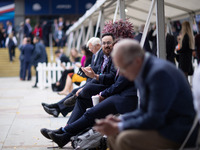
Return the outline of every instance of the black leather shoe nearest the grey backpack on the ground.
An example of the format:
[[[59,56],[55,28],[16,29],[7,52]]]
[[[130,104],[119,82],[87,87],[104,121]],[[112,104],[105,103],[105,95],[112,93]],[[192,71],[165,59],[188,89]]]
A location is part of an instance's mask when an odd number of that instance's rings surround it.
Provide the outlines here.
[[[56,134],[56,133],[53,133],[53,132],[49,132],[48,134],[49,134],[50,138],[56,144],[58,144],[58,146],[60,148],[62,148],[63,146],[65,146],[70,141],[70,138],[72,137],[72,135],[68,134],[68,133]]]

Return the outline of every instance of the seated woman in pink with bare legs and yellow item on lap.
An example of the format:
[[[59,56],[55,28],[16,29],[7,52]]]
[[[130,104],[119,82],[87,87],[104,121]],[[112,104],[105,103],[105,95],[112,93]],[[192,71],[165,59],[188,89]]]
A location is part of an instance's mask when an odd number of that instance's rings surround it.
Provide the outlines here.
[[[81,53],[83,54],[83,57],[81,59],[81,64],[76,64],[77,67],[87,67],[91,64],[92,60],[92,52],[89,51],[89,49],[86,47],[86,45],[82,46]],[[82,77],[78,75],[77,73],[69,73],[67,75],[67,80],[65,84],[65,88],[59,92],[60,95],[68,95],[73,90],[73,83],[76,83],[77,85],[80,85],[82,81],[86,81],[86,77]]]

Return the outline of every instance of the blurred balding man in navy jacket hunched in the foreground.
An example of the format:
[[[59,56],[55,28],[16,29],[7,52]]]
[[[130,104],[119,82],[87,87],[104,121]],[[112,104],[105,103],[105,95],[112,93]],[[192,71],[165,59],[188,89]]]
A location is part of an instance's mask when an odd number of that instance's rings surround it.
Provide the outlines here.
[[[195,117],[192,92],[183,73],[173,64],[145,54],[130,39],[118,42],[112,57],[121,74],[135,81],[140,105],[119,118],[109,115],[98,120],[95,129],[109,137],[111,150],[178,148]],[[188,146],[195,144],[197,133],[191,135]]]

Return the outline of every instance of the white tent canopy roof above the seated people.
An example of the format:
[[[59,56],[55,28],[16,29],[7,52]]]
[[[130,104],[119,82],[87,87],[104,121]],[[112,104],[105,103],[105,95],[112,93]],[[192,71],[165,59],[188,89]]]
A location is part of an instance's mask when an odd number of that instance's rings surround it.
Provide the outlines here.
[[[153,5],[153,1],[156,4]],[[163,4],[164,7],[162,8]],[[157,8],[154,10],[152,7],[155,5]],[[119,11],[116,11],[118,9]],[[150,14],[151,10],[152,13]],[[159,12],[156,13],[157,11]],[[159,16],[160,14],[161,16]],[[149,19],[149,23],[161,23],[158,28],[161,27],[164,30],[164,22],[188,17],[194,20],[196,14],[200,14],[200,0],[97,0],[93,7],[67,31],[67,35],[70,37],[68,48],[75,45],[79,48],[80,44],[85,43],[89,37],[96,36],[96,32],[95,34],[93,32],[95,25],[102,29],[104,23],[109,20],[126,17],[130,19],[134,26],[140,26]],[[158,21],[158,18],[165,20],[162,23],[161,20]],[[148,28],[147,23],[146,25]],[[87,35],[84,32],[85,27],[88,27]],[[164,35],[161,36],[164,38]]]

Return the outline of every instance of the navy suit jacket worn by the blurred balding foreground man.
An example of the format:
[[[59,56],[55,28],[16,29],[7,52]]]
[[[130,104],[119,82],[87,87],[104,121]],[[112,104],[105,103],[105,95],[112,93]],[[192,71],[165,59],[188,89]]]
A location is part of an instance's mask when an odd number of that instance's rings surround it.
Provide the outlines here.
[[[181,144],[195,117],[192,92],[183,73],[150,55],[135,84],[140,92],[140,108],[122,116],[123,129],[157,130]],[[196,136],[197,132],[189,145],[195,144]]]

